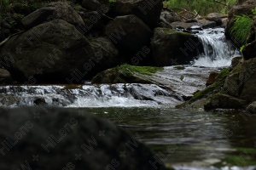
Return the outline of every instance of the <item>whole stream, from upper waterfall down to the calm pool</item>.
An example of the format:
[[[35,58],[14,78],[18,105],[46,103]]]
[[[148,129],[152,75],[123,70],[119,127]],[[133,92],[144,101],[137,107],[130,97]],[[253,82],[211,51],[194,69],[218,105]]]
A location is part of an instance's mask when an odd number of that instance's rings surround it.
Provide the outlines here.
[[[183,111],[174,106],[205,88],[210,71],[230,65],[238,52],[224,29],[198,34],[205,54],[194,65],[165,67],[154,84],[0,87],[0,106],[55,105],[102,116],[137,133],[155,156],[177,170],[256,169],[256,117],[239,111]]]

